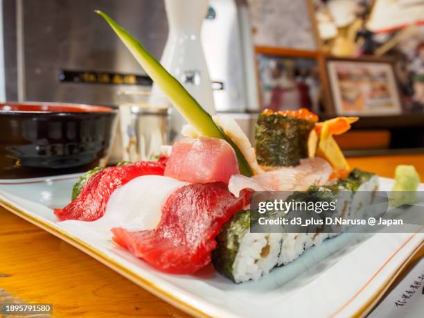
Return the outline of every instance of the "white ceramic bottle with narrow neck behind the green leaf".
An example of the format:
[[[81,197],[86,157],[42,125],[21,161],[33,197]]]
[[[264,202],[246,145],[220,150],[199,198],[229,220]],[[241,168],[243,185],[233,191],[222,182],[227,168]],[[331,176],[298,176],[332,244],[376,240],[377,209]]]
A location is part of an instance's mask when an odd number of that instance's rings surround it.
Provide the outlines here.
[[[206,67],[200,31],[208,8],[208,0],[165,0],[168,17],[168,40],[161,57],[161,64],[170,72],[200,105],[215,114],[212,85]],[[153,84],[152,99],[165,98]],[[173,132],[177,135],[186,120],[172,112]]]

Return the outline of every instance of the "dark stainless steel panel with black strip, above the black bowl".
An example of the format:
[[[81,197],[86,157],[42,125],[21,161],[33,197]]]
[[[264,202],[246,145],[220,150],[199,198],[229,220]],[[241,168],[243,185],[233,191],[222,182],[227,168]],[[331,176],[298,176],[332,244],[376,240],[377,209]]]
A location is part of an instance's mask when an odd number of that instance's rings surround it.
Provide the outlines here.
[[[117,91],[150,85],[143,69],[94,10],[108,12],[125,24],[160,58],[168,34],[163,1],[0,3],[4,48],[0,98],[116,105]]]

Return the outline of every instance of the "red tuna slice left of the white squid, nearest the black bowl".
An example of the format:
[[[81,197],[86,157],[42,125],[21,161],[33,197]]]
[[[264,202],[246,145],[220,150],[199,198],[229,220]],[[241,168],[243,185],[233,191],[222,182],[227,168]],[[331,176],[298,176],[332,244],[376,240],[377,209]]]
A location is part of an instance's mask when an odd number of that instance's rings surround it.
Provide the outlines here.
[[[59,220],[94,221],[106,211],[112,192],[141,175],[164,175],[164,163],[140,161],[121,167],[100,170],[91,177],[73,202],[63,209],[55,209]]]

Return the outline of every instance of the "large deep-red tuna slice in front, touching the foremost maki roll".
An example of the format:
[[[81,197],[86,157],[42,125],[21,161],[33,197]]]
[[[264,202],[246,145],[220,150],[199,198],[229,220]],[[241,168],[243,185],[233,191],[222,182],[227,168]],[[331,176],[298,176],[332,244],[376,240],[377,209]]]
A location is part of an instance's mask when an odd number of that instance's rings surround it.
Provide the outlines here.
[[[158,270],[193,274],[211,262],[222,224],[249,201],[249,191],[234,197],[221,182],[183,186],[166,200],[156,229],[114,228],[114,241]]]

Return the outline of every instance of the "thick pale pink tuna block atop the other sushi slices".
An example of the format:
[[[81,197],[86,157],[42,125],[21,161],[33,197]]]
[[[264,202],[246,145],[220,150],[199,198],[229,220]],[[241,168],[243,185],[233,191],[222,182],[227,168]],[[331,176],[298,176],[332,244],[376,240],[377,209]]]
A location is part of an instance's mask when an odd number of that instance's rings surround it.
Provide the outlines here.
[[[236,153],[216,138],[184,138],[173,145],[165,169],[166,177],[191,183],[225,182],[238,174]]]

